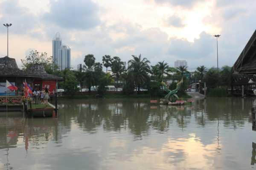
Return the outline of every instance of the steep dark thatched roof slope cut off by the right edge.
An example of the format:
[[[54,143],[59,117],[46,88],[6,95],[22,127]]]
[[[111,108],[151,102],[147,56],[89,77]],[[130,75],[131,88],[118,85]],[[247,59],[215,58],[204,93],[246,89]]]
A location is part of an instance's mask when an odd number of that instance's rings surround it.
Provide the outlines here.
[[[234,64],[233,74],[256,74],[256,31]]]

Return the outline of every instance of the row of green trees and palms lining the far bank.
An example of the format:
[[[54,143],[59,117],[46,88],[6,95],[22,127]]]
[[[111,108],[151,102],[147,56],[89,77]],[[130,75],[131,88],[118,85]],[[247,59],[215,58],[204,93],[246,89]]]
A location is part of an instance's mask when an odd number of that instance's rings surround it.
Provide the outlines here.
[[[28,69],[35,63],[43,64],[47,73],[63,77],[60,87],[69,94],[79,91],[78,86],[81,87],[80,90],[87,87],[89,92],[92,86],[98,86],[99,94],[104,94],[105,86],[114,85],[122,88],[126,95],[140,94],[141,89],[147,89],[151,95],[163,95],[162,81],[168,82],[170,89],[175,89],[177,81],[183,78],[178,92],[178,95],[183,96],[186,95],[189,84],[197,82],[206,82],[210,89],[224,86],[228,88],[232,75],[231,67],[228,66],[224,66],[221,71],[199,66],[195,72],[188,72],[186,66],[174,68],[165,61],[150,65],[151,62],[142,55],[131,55],[128,63],[117,56],[104,55],[100,63],[96,62],[93,54],[88,54],[84,56],[84,64],[78,70],[58,70],[58,66],[54,64],[52,57],[47,57],[47,53],[31,51],[22,63],[23,69]]]

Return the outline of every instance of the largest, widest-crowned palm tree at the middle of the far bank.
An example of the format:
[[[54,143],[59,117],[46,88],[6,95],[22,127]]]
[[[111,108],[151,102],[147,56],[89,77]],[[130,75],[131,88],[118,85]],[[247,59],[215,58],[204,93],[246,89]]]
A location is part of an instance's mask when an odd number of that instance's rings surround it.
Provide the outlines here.
[[[130,63],[128,69],[131,70],[134,82],[138,87],[138,92],[140,92],[140,86],[148,79],[148,73],[150,72],[150,66],[148,64],[150,61],[147,58],[142,59],[141,54],[139,57],[136,55],[132,55],[132,57],[133,59],[128,61]]]

